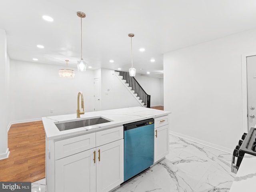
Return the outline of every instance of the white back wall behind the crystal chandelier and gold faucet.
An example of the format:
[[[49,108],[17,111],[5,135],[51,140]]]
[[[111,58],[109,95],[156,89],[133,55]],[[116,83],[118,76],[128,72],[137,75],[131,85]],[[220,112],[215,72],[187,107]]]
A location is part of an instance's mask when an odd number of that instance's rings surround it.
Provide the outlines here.
[[[18,60],[10,60],[10,65],[12,122],[76,113],[79,91],[84,96],[85,112],[93,111],[94,71],[72,68],[74,78],[60,78],[58,70],[62,66]]]

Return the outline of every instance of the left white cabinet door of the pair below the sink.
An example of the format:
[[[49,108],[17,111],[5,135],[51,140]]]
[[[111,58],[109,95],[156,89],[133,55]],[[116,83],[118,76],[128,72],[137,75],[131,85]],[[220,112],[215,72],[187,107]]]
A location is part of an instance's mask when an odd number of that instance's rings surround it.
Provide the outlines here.
[[[94,149],[55,161],[55,192],[96,192]]]

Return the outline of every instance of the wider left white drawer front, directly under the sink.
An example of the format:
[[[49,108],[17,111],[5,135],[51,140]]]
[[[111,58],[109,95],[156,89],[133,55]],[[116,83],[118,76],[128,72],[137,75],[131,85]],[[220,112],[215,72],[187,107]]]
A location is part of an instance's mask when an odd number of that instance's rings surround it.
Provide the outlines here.
[[[55,160],[96,147],[95,133],[55,142]]]

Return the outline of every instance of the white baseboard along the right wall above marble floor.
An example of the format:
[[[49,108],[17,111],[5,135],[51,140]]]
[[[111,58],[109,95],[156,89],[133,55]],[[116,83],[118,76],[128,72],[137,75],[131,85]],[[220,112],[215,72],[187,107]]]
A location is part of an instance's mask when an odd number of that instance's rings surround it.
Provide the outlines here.
[[[232,154],[233,150],[234,150],[234,149],[229,149],[229,148],[226,148],[226,147],[222,147],[220,145],[216,145],[216,144],[213,144],[213,143],[210,143],[210,142],[206,142],[206,141],[203,141],[203,140],[200,140],[200,139],[196,139],[196,138],[184,135],[184,134],[180,134],[180,133],[177,133],[177,132],[170,131],[170,134],[174,135],[174,136],[177,136],[177,137],[180,137],[180,138],[183,138],[183,139],[186,139],[186,140],[196,142],[198,144],[201,144],[201,145],[204,145],[204,146],[207,146],[207,147],[210,147],[210,148],[214,148],[214,149],[226,152],[228,154]]]

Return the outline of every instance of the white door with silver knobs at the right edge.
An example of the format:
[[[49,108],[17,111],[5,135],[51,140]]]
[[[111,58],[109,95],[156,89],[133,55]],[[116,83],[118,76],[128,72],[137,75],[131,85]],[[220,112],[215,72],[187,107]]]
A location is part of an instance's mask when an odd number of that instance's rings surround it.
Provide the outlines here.
[[[256,56],[246,58],[248,129],[256,124]]]

